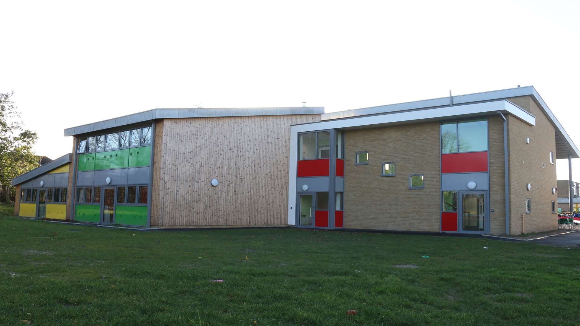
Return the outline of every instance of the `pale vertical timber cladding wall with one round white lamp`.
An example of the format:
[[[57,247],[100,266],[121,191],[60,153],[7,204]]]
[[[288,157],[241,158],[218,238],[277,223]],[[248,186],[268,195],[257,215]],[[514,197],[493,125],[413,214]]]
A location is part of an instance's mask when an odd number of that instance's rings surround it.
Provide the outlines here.
[[[318,114],[158,121],[151,226],[287,225],[290,126],[316,121]]]

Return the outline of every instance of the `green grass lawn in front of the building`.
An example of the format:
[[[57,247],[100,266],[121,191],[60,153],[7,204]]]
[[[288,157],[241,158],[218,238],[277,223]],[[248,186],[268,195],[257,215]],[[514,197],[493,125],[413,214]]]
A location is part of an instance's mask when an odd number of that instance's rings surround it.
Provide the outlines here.
[[[143,232],[8,216],[0,245],[0,325],[580,324],[578,248],[298,229]]]

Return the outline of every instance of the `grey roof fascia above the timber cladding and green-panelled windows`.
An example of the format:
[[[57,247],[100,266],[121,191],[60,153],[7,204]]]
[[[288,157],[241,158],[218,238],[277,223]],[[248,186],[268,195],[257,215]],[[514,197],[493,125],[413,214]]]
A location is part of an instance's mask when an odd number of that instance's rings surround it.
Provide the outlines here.
[[[205,118],[205,117],[244,117],[251,115],[292,115],[323,114],[324,107],[256,107],[256,108],[154,108],[153,110],[123,115],[113,119],[93,122],[64,129],[64,136],[75,136],[82,133],[136,124],[154,119],[171,118]]]

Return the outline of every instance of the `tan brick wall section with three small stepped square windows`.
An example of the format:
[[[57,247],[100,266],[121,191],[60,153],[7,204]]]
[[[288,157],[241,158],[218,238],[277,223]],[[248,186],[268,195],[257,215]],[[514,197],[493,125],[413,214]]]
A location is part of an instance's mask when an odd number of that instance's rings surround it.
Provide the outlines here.
[[[368,165],[354,165],[357,151]],[[396,176],[380,176],[382,162]],[[345,165],[346,228],[440,230],[439,122],[347,131]],[[408,189],[409,174],[424,174],[425,189]]]

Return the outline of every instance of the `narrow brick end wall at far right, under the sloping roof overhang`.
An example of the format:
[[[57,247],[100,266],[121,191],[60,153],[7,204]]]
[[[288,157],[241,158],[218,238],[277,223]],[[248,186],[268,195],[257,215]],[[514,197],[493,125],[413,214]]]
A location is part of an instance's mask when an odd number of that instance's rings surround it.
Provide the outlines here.
[[[552,214],[552,194],[556,183],[556,165],[550,164],[549,152],[556,153],[554,126],[531,96],[512,97],[508,100],[536,117],[536,125],[507,117],[510,173],[510,233],[548,231],[558,228],[556,215]],[[525,143],[531,137],[530,144]],[[542,166],[543,163],[543,166]],[[555,162],[554,162],[555,163]],[[526,184],[531,184],[531,190]],[[531,213],[525,213],[525,198],[531,199]],[[522,229],[524,216],[525,228]]]

